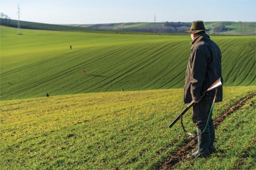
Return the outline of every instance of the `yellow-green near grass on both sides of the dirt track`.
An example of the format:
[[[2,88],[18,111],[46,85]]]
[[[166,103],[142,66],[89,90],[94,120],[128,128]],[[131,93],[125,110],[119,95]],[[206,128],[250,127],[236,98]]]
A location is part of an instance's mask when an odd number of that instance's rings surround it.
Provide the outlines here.
[[[215,104],[214,117],[254,90],[253,86],[224,87],[224,102]],[[255,136],[250,133],[255,130],[254,102],[255,97],[216,131],[216,146],[224,155],[216,153],[206,163],[196,160],[193,168],[216,166],[215,160],[220,161],[216,169],[227,162],[230,169],[255,168]],[[1,101],[0,165],[4,169],[154,169],[187,138],[179,123],[168,128],[183,107],[182,89]],[[190,111],[183,121],[194,131]],[[180,167],[192,168],[188,163]]]

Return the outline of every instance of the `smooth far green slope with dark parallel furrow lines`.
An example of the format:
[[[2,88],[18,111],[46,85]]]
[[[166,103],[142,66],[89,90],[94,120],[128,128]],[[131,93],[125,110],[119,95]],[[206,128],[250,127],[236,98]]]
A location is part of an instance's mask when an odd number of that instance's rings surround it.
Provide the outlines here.
[[[212,39],[222,50],[225,86],[255,86],[255,36]],[[1,100],[43,97],[45,92],[181,88],[190,41],[189,35],[45,30],[16,35],[16,29],[1,26]]]

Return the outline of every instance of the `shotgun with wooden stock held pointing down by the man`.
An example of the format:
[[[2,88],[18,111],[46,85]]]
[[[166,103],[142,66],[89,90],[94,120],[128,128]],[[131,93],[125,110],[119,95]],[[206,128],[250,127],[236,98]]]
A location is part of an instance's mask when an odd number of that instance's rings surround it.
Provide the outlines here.
[[[221,83],[221,78],[218,78],[218,80],[216,80],[207,90],[205,90],[205,92],[203,92],[201,95],[202,95],[202,97],[204,97],[204,95],[208,92],[208,91],[210,91],[210,90],[213,90],[213,89],[216,89],[217,87],[219,87],[219,86],[222,86],[222,83]],[[172,127],[179,119],[180,119],[180,117],[182,117],[182,115],[183,114],[185,114],[187,111],[188,111],[188,109],[190,109],[190,107],[192,107],[192,106],[194,106],[194,101],[192,100],[191,102],[190,102],[190,104],[188,104],[188,106],[184,109],[184,110],[182,110],[182,112],[176,117],[176,119],[174,119],[174,121],[172,121],[172,123],[169,125],[169,127]]]

